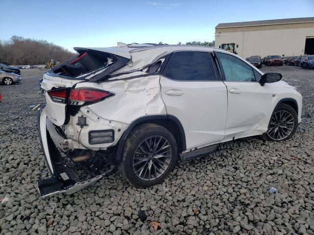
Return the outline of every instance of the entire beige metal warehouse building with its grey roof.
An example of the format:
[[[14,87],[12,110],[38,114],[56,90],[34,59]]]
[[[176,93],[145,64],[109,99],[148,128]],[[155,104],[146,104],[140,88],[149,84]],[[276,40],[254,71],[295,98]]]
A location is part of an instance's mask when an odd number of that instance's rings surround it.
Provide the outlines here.
[[[224,23],[215,29],[215,47],[235,43],[242,58],[314,54],[314,17]]]

